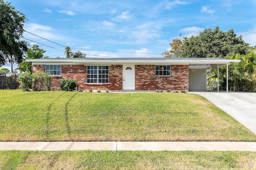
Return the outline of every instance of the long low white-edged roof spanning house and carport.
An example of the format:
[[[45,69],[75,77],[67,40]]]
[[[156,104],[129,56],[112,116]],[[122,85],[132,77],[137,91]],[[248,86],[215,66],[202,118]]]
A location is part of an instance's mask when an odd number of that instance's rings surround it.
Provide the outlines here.
[[[189,68],[215,68],[240,60],[218,58],[43,58],[29,59],[32,64],[182,64]]]

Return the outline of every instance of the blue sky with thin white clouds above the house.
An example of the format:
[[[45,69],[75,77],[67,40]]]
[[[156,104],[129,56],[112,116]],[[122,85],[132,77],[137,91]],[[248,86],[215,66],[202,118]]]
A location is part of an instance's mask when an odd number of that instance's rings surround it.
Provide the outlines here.
[[[190,37],[216,26],[222,31],[233,28],[246,43],[256,45],[256,0],[7,2],[28,18],[24,25],[26,31],[74,48],[73,51],[79,49],[87,57],[162,57],[160,54],[170,48],[169,43],[179,34]],[[26,41],[31,45],[44,44],[38,45],[46,51],[45,56],[66,57],[63,46],[26,32],[24,37],[30,39]],[[10,68],[10,64],[3,67]]]

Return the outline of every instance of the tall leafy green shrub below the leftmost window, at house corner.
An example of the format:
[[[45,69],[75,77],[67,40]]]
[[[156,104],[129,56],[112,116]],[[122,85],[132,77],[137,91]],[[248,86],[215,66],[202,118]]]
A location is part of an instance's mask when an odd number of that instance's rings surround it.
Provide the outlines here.
[[[43,89],[46,89],[48,91],[51,90],[52,76],[50,75],[49,72],[45,73],[44,71],[39,70],[35,72],[32,77],[33,77],[34,91],[43,90]]]

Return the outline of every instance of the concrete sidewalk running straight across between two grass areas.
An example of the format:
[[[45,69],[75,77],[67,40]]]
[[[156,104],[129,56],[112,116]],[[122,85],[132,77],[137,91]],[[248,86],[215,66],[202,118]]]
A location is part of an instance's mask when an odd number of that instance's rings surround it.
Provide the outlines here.
[[[0,142],[0,150],[256,151],[256,142]]]

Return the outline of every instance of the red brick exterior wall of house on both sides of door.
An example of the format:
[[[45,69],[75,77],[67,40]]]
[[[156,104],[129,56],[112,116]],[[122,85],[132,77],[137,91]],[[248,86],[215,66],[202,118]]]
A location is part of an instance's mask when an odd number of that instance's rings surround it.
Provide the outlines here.
[[[110,84],[85,84],[86,66],[61,65],[61,76],[54,76],[51,90],[60,90],[59,80],[70,78],[77,82],[78,90],[122,90],[122,65],[109,66]],[[33,73],[45,70],[45,65],[33,65]],[[155,76],[154,65],[135,65],[135,90],[186,90],[188,91],[188,65],[171,65],[171,76]]]

